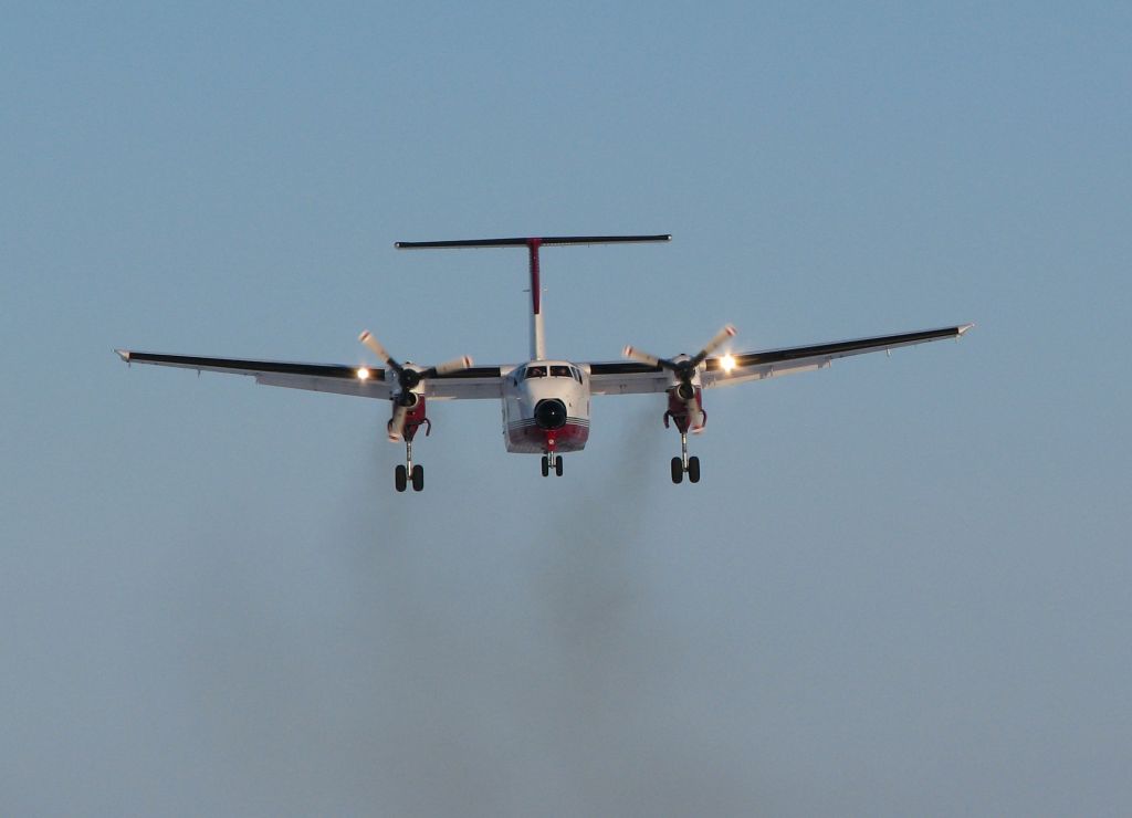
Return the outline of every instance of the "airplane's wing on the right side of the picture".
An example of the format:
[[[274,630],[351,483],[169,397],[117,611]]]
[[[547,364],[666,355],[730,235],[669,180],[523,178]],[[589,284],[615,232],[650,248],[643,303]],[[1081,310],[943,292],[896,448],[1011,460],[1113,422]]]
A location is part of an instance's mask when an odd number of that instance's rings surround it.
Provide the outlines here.
[[[866,352],[894,350],[900,346],[926,344],[932,341],[958,338],[974,324],[962,324],[940,329],[917,333],[878,335],[871,338],[837,341],[826,344],[788,346],[781,350],[740,352],[730,356],[713,355],[703,363],[700,380],[703,387],[734,386],[748,380],[777,378],[782,374],[809,372],[829,367],[833,359],[861,355]],[[724,368],[724,360],[730,369]],[[661,367],[633,361],[610,361],[586,364],[590,370],[590,387],[594,395],[632,395],[658,393],[671,387],[676,380],[671,372]]]

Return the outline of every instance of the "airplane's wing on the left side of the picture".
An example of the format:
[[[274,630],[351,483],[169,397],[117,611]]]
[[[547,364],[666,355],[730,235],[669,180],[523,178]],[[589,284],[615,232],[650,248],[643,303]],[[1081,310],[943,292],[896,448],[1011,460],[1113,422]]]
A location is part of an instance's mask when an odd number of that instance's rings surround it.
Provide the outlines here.
[[[198,372],[246,374],[265,386],[289,389],[326,391],[354,397],[388,399],[395,380],[388,380],[387,370],[377,367],[345,364],[298,363],[294,361],[250,361],[234,358],[198,358],[170,355],[156,352],[114,350],[129,364],[144,363],[156,367],[195,369]],[[365,372],[365,374],[362,374]],[[472,367],[447,374],[434,374],[424,381],[424,395],[438,399],[496,398],[501,390],[499,367]]]

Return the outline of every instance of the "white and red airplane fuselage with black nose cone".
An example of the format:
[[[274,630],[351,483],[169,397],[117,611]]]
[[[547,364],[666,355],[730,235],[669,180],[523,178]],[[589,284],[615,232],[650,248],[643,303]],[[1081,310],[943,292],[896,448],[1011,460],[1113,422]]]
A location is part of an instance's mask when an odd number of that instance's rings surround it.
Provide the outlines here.
[[[590,376],[568,361],[530,361],[503,384],[507,451],[581,451],[590,438]]]

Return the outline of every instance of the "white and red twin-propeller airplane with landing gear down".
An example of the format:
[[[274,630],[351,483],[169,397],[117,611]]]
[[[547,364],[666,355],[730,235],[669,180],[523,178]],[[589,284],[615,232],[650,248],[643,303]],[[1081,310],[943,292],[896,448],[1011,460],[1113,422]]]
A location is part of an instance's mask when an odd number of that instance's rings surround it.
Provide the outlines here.
[[[395,360],[369,330],[360,341],[385,364],[350,367],[286,361],[247,361],[229,358],[196,358],[154,352],[115,350],[127,363],[152,363],[208,372],[249,374],[256,382],[292,389],[329,391],[340,395],[380,398],[391,402],[387,424],[389,440],[405,444],[405,463],[394,472],[394,485],[404,491],[424,488],[424,470],[413,463],[413,438],[421,427],[431,431],[427,402],[445,399],[492,399],[503,403],[503,434],[507,451],[541,455],[542,476],[563,473],[561,455],[581,451],[590,437],[591,395],[663,394],[664,425],[680,433],[680,456],[671,462],[672,482],[684,475],[700,482],[700,458],[688,456],[688,432],[698,433],[707,423],[703,390],[763,380],[780,374],[824,369],[835,358],[893,350],[942,338],[958,338],[974,325],[925,329],[918,333],[881,335],[857,341],[791,346],[761,352],[713,355],[735,335],[728,325],[694,355],[660,358],[626,346],[624,361],[576,363],[547,358],[542,322],[542,287],[539,250],[561,244],[616,244],[670,241],[671,235],[582,235],[544,239],[480,239],[472,241],[403,241],[402,250],[423,248],[525,248],[531,276],[531,360],[523,363],[473,367],[472,359],[457,358],[435,367]]]

